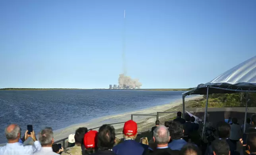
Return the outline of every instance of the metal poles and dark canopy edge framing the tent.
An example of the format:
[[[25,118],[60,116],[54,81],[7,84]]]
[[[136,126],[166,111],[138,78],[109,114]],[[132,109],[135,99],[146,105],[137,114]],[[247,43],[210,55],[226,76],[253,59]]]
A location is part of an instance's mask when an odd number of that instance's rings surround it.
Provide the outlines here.
[[[204,127],[203,127],[203,132],[202,132],[202,138],[204,136],[204,132],[205,132],[205,128],[206,128],[206,116],[207,116],[207,111],[208,111],[208,96],[209,96],[209,88],[211,89],[222,89],[222,90],[225,90],[225,91],[230,91],[229,93],[242,93],[242,92],[246,92],[246,107],[245,107],[245,115],[244,115],[244,132],[245,132],[245,123],[246,123],[246,117],[247,117],[247,103],[248,101],[248,93],[256,93],[256,88],[245,88],[243,89],[242,87],[237,87],[237,89],[232,89],[232,86],[229,86],[227,88],[222,88],[222,87],[214,87],[214,86],[209,86],[209,85],[206,85],[204,86],[207,88],[207,93],[206,93],[206,108],[205,108],[205,112],[204,112]],[[233,86],[234,87],[234,86]],[[202,87],[199,87],[198,89],[200,89]],[[193,93],[189,93],[190,91],[188,92],[185,92],[182,94],[182,106],[183,106],[183,110],[182,110],[182,114],[183,114],[183,118],[184,118],[184,113],[185,113],[185,97],[188,96],[188,95],[192,95]]]

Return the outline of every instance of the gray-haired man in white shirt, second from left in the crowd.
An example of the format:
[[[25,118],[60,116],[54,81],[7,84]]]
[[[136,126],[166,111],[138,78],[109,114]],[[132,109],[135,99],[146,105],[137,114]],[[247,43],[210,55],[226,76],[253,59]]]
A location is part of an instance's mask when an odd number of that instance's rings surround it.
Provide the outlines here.
[[[43,129],[39,134],[39,141],[42,148],[34,155],[58,155],[58,153],[52,151],[52,144],[54,144],[52,129]]]

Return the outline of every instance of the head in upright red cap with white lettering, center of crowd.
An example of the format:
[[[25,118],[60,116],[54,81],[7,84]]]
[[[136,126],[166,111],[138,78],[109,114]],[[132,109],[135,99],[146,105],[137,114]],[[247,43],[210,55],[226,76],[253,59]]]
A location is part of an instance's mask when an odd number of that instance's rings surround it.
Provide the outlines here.
[[[137,137],[137,123],[129,120],[124,123],[124,139],[136,139]]]

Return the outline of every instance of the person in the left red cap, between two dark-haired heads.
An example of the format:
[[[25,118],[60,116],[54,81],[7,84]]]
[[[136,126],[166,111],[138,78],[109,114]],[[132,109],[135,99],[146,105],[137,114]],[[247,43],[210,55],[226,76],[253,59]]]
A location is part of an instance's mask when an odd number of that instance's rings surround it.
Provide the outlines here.
[[[97,131],[90,130],[84,135],[83,144],[85,146],[85,152],[88,155],[97,151],[97,134]]]

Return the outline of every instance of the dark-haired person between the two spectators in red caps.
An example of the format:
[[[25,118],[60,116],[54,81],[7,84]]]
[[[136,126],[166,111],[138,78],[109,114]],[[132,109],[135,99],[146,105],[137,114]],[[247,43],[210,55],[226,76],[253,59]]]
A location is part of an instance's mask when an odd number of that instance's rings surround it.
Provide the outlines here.
[[[99,128],[98,136],[97,136],[97,146],[98,151],[93,155],[116,155],[112,148],[115,144],[116,134],[114,133],[114,127],[111,125],[102,125]]]

